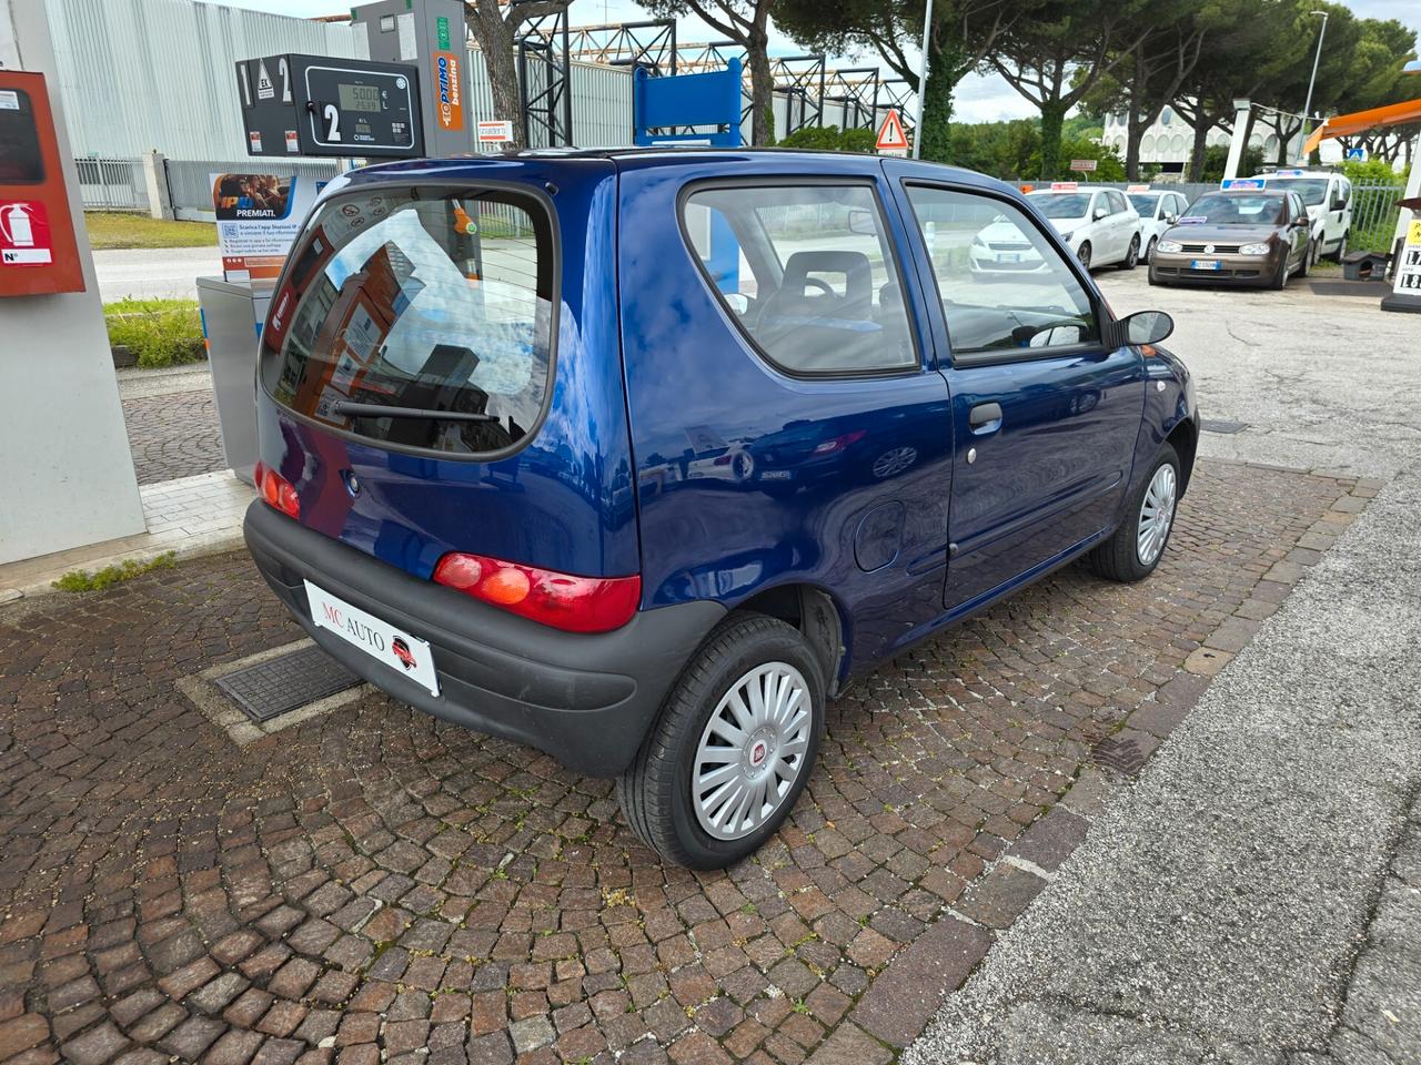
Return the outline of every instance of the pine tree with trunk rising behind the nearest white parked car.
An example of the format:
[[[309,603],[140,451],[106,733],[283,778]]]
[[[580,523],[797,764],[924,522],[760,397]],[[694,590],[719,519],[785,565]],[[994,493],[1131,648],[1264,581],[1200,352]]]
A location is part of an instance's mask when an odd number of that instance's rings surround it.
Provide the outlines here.
[[[1134,14],[1148,0],[1056,0],[1002,34],[986,62],[1042,112],[1042,172],[1060,173],[1061,122],[1148,34]]]

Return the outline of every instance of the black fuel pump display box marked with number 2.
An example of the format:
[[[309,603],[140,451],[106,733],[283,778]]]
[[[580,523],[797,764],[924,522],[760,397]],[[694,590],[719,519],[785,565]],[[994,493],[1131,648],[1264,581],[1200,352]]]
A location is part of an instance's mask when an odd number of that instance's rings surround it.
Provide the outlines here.
[[[419,72],[406,62],[267,55],[237,62],[247,155],[415,159]]]

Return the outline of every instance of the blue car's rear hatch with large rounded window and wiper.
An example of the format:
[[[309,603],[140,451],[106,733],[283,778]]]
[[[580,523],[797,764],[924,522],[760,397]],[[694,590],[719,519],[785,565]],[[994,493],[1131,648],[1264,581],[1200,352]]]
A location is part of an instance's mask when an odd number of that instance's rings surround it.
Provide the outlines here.
[[[449,552],[637,572],[614,183],[607,159],[534,156],[327,187],[257,382],[301,524],[419,578]]]

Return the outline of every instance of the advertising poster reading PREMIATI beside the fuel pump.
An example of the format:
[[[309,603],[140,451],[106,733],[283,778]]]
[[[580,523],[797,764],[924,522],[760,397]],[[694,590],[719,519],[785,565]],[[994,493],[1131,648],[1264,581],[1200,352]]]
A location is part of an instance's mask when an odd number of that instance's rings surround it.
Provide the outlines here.
[[[212,175],[223,277],[274,283],[324,185],[310,178],[273,173]]]

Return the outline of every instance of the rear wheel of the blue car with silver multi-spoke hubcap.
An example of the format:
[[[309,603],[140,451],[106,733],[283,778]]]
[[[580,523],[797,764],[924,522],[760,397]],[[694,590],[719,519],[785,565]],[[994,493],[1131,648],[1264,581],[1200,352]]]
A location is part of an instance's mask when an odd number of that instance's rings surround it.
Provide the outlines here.
[[[790,696],[796,701],[786,711],[793,717],[779,724],[763,716],[752,720],[736,709],[737,699],[753,716],[747,707],[755,699],[746,684],[760,683],[764,690],[764,677],[799,693]],[[824,701],[818,657],[799,629],[759,613],[730,615],[686,665],[631,767],[617,780],[627,824],[664,859],[692,869],[723,869],[755,853],[783,824],[814,771],[824,734]],[[740,730],[745,738],[739,761],[722,753],[736,746],[712,730],[713,717],[728,726],[759,721]],[[784,754],[786,748],[791,753]],[[752,761],[756,753],[760,760]],[[720,770],[702,771],[703,765]],[[701,777],[732,767],[739,767],[739,775],[730,772],[723,781],[696,787]],[[784,781],[782,770],[791,772],[790,780]],[[782,782],[784,790],[772,804],[770,790]],[[746,784],[762,785],[764,801],[757,815],[750,809],[742,814],[742,801],[735,798],[740,794],[735,788]],[[719,795],[722,787],[730,787],[729,798]],[[710,825],[726,816],[740,824],[713,834]]]

